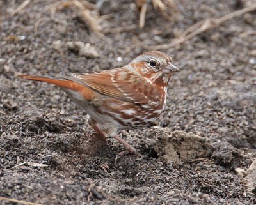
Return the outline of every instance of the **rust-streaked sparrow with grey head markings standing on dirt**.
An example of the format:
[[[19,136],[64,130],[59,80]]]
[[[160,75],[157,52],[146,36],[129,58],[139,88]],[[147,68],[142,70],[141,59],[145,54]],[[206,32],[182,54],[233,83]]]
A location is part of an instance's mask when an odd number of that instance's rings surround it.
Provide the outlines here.
[[[164,111],[167,87],[179,68],[172,57],[161,51],[140,54],[131,63],[100,72],[61,76],[52,79],[21,74],[26,80],[47,82],[59,87],[82,109],[87,122],[101,137],[113,137],[125,148],[115,163],[125,155],[138,154],[118,132],[134,130],[154,123]]]

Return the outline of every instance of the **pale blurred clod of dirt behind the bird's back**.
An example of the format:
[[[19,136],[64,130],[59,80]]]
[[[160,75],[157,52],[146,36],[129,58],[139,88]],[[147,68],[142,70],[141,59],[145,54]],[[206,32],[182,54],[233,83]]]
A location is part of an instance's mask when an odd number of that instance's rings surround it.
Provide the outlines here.
[[[68,50],[78,54],[79,56],[90,57],[90,58],[99,57],[97,50],[95,50],[95,47],[92,47],[90,43],[67,42],[66,47]]]

